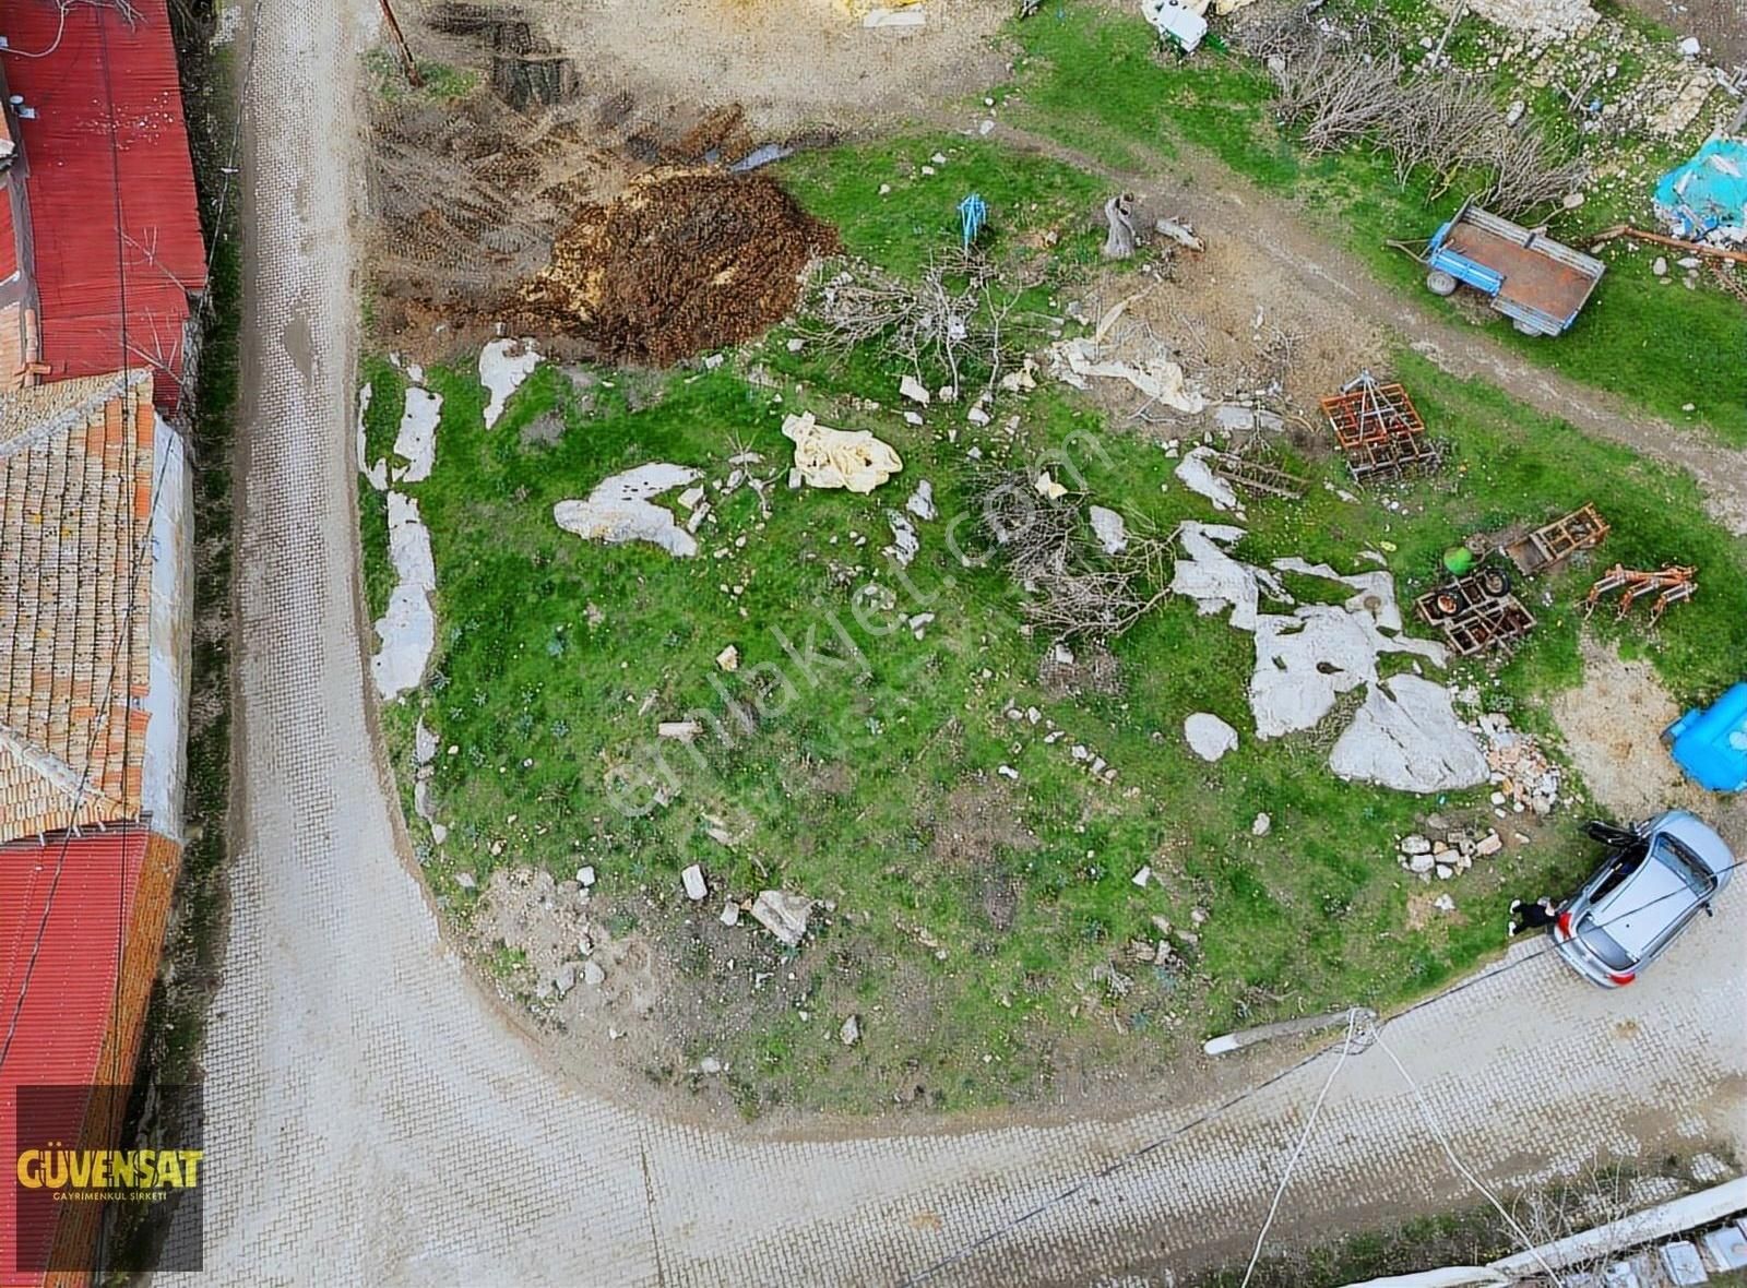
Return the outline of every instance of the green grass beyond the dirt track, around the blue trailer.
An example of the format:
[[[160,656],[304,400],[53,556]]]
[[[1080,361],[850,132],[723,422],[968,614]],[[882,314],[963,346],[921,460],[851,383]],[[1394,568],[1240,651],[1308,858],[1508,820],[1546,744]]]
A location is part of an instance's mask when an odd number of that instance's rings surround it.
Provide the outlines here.
[[[1347,0],[1349,7],[1356,3],[1361,0]],[[1438,37],[1447,21],[1424,0],[1391,0],[1389,9],[1412,38]],[[1487,49],[1501,42],[1481,44],[1483,31],[1494,30],[1473,17],[1464,23],[1452,45],[1459,61],[1485,63]],[[1015,80],[1001,92],[1006,119],[1123,169],[1157,169],[1157,159],[1176,155],[1179,143],[1204,148],[1260,187],[1295,197],[1314,223],[1387,281],[1422,291],[1424,269],[1385,243],[1429,237],[1460,204],[1460,194],[1433,195],[1420,180],[1398,187],[1389,164],[1366,150],[1302,155],[1291,134],[1275,124],[1272,80],[1260,66],[1212,49],[1188,61],[1155,59],[1151,30],[1143,19],[1083,0],[1055,0],[1038,17],[1015,24],[1013,33],[1024,56]],[[1618,35],[1618,28],[1604,24],[1586,42],[1605,47],[1619,68],[1604,86],[1609,94],[1646,72],[1640,44],[1621,45],[1618,52],[1605,45]],[[1642,33],[1637,38],[1642,42]],[[1667,45],[1660,52],[1667,58]],[[1522,96],[1532,117],[1574,133],[1557,89],[1522,82],[1513,70],[1520,66],[1506,63],[1499,72],[1501,110]],[[1097,92],[1088,92],[1088,86]],[[1658,227],[1651,209],[1654,180],[1689,155],[1702,136],[1703,127],[1695,126],[1675,141],[1588,143],[1592,164],[1614,178],[1581,209],[1557,211],[1553,234],[1585,248],[1585,234],[1612,223]],[[1679,271],[1654,277],[1651,264],[1660,253],[1609,243],[1600,251],[1607,277],[1572,330],[1557,340],[1516,335],[1502,318],[1487,326],[1501,344],[1572,379],[1623,394],[1675,424],[1747,443],[1747,384],[1740,363],[1747,353],[1747,311],[1712,284],[1682,288],[1675,281]],[[1695,410],[1684,410],[1688,403]]]

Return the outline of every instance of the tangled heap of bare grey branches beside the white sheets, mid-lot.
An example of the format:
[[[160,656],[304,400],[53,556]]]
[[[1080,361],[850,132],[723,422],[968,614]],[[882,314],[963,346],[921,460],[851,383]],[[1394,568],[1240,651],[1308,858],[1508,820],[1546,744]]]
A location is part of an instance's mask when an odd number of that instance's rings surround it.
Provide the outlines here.
[[[1052,639],[1115,639],[1170,593],[1170,543],[1130,534],[1106,553],[1083,494],[1043,496],[1029,469],[1003,466],[977,471],[970,494],[994,560],[1025,592],[1022,616]]]

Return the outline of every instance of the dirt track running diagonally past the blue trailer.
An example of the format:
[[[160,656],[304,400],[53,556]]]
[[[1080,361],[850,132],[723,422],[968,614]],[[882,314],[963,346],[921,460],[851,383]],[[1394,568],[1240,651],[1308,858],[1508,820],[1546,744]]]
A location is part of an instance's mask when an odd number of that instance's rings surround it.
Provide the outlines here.
[[[964,126],[956,115],[936,115],[935,120],[949,129]],[[1747,450],[1707,442],[1698,429],[1658,421],[1609,393],[1516,358],[1490,337],[1452,321],[1448,311],[1377,281],[1356,255],[1310,230],[1303,213],[1291,202],[1261,192],[1207,154],[1184,143],[1179,145],[1177,157],[1155,155],[1144,171],[1118,171],[1055,140],[1008,124],[998,126],[991,138],[1102,175],[1113,187],[1158,194],[1160,206],[1179,211],[1209,239],[1235,236],[1242,227],[1267,229],[1265,237],[1253,237],[1247,246],[1300,284],[1343,300],[1356,318],[1401,333],[1415,353],[1452,375],[1480,377],[1537,412],[1569,421],[1595,438],[1621,443],[1653,461],[1688,471],[1698,480],[1712,517],[1731,532],[1747,536]],[[1190,183],[1181,182],[1184,175]],[[1162,176],[1169,176],[1169,182]]]

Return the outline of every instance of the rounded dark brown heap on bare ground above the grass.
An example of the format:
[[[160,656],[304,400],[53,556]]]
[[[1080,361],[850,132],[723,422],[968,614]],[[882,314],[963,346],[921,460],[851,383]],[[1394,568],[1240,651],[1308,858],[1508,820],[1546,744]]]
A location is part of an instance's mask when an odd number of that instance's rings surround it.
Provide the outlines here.
[[[788,316],[807,264],[837,246],[765,176],[650,171],[559,234],[550,267],[521,290],[524,325],[666,367]]]

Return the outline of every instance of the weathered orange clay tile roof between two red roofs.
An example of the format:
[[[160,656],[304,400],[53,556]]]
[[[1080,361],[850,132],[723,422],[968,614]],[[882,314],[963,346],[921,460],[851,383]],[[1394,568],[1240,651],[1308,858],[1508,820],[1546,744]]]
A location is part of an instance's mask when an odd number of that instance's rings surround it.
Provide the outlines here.
[[[0,843],[140,813],[152,435],[145,372],[0,403]]]

